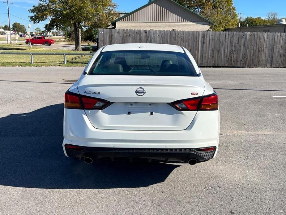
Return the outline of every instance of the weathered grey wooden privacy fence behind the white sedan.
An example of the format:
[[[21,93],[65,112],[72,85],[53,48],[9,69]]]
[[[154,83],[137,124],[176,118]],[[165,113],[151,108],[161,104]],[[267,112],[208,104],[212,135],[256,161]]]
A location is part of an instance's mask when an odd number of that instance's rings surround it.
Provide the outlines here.
[[[199,66],[286,67],[286,33],[98,29],[98,47],[118,43],[184,46]]]

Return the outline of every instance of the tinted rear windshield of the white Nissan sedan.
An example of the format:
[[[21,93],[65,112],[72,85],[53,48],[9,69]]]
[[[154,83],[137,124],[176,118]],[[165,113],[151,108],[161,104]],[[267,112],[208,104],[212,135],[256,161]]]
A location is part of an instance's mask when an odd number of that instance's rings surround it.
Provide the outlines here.
[[[88,75],[197,76],[186,53],[169,51],[101,52]]]

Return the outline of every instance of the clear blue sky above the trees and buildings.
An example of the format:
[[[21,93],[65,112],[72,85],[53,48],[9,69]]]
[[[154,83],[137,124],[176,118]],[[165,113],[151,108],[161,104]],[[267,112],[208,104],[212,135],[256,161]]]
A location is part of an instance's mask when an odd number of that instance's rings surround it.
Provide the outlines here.
[[[2,3],[0,1],[0,25],[8,24],[8,16],[7,16],[7,4]],[[119,11],[130,12],[142,5],[146,4],[147,0],[113,0],[118,4]],[[13,4],[9,4],[10,8],[10,23],[11,25],[14,22],[19,22],[24,24],[26,27],[30,23],[28,20],[29,12],[28,9],[33,5],[37,4],[37,0],[9,0],[9,2],[13,2]],[[261,16],[265,17],[267,12],[275,11],[279,14],[279,17],[286,17],[286,1],[285,0],[234,0],[234,6],[237,8],[237,13],[241,12],[242,17],[246,16]],[[21,19],[20,19],[21,18]],[[39,27],[40,29],[44,29],[44,24],[32,24],[31,29],[36,29]],[[27,27],[28,28],[28,27]]]

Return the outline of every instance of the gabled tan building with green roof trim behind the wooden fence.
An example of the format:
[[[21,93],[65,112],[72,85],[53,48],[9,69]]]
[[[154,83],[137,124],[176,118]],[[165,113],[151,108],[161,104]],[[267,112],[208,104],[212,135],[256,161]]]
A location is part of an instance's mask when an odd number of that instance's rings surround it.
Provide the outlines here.
[[[210,20],[173,0],[154,0],[111,22],[117,29],[210,30]]]

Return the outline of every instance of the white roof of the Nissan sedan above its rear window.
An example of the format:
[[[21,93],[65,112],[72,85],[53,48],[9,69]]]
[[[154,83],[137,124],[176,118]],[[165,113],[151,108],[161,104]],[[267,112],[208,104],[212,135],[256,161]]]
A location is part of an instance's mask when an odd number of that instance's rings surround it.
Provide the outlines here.
[[[121,51],[121,50],[148,50],[148,51],[174,51],[184,53],[181,46],[169,44],[156,44],[156,43],[124,43],[107,45],[103,48],[105,51]]]

